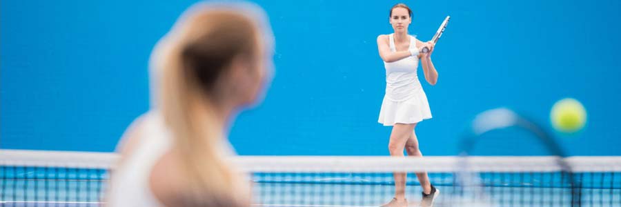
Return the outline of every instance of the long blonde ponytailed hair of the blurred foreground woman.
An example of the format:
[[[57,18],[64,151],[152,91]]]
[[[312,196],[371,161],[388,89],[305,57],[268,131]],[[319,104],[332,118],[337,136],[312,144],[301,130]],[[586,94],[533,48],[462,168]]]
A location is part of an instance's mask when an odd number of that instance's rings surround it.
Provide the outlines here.
[[[218,121],[217,84],[235,57],[257,58],[259,38],[271,46],[260,8],[199,3],[161,39],[151,59],[152,95],[180,152],[184,206],[249,206],[249,182],[224,159],[230,154]],[[263,20],[263,21],[262,21]],[[265,31],[269,30],[269,31]],[[263,33],[262,33],[263,32]],[[269,33],[270,34],[270,33]],[[161,82],[161,85],[159,84]]]

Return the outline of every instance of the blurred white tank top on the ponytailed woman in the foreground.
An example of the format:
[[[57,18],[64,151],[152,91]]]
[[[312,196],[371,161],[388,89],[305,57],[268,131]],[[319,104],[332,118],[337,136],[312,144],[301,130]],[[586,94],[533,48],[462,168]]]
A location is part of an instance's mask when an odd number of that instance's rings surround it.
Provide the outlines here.
[[[106,206],[164,206],[152,193],[149,176],[155,162],[170,149],[170,134],[164,118],[155,110],[139,117],[139,144],[112,172]]]

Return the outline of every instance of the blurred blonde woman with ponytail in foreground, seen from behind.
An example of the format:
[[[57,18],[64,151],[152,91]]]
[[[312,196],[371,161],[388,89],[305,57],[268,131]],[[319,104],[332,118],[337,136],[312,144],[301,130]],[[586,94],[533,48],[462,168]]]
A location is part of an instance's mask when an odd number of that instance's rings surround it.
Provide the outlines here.
[[[152,55],[152,109],[119,144],[107,206],[250,206],[250,183],[225,160],[229,123],[262,99],[273,36],[248,3],[199,3]]]

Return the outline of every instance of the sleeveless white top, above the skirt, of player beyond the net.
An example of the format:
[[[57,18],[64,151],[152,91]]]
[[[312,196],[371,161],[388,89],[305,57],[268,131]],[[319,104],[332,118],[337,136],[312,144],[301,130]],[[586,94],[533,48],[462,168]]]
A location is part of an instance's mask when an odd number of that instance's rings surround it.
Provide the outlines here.
[[[415,37],[410,36],[409,49],[416,48]],[[391,52],[397,52],[395,38],[393,34],[388,34],[390,38]],[[386,68],[386,99],[391,101],[406,101],[413,97],[417,90],[422,86],[418,81],[416,69],[418,68],[418,57],[406,57],[392,63],[384,62]]]

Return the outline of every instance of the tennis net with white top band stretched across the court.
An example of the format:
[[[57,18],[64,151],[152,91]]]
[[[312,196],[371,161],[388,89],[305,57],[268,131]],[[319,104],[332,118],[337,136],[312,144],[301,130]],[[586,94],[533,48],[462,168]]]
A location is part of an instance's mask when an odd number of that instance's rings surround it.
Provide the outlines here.
[[[1,206],[101,206],[117,155],[0,150]],[[393,172],[407,172],[406,198],[428,172],[435,206],[621,206],[621,157],[239,156],[253,206],[381,206]]]

